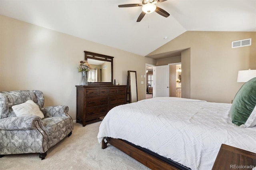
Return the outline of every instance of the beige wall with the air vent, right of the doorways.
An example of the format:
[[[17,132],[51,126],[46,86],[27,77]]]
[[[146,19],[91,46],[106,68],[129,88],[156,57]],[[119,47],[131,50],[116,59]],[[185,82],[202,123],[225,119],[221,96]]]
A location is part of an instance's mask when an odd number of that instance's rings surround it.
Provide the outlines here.
[[[231,42],[252,38],[252,45],[231,48]],[[188,31],[149,55],[182,52],[182,97],[230,103],[243,83],[239,70],[256,69],[256,32]],[[184,92],[185,96],[184,96]]]

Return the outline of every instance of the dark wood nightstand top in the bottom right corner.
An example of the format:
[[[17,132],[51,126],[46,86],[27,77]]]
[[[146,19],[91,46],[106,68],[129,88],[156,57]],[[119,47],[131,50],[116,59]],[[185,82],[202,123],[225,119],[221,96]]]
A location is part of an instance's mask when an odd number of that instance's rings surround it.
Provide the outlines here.
[[[252,170],[256,153],[222,144],[212,170]]]

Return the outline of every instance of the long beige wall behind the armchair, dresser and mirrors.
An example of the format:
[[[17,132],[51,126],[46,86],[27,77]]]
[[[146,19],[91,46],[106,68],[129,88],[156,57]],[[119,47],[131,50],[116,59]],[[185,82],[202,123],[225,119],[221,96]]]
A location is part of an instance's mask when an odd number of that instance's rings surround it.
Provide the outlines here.
[[[120,85],[126,85],[128,70],[137,71],[138,99],[145,99],[146,87],[140,82],[146,78],[140,75],[154,59],[5,16],[0,16],[0,91],[41,90],[45,106],[67,105],[75,120],[75,85],[81,78],[77,67],[84,51],[113,56],[113,77]]]

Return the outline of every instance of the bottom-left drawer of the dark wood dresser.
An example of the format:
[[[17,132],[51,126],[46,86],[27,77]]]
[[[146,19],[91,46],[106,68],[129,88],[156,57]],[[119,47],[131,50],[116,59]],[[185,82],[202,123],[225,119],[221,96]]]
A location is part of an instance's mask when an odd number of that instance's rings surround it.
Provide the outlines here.
[[[97,119],[101,116],[105,116],[108,113],[108,106],[97,107],[93,109],[86,109],[85,120]]]

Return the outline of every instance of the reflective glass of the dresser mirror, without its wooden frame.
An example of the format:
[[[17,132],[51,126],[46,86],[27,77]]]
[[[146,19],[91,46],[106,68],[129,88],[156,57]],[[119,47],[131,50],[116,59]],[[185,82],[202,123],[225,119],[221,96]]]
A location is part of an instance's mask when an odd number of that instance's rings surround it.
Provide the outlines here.
[[[88,71],[88,82],[111,82],[111,62],[87,59],[92,69]]]

